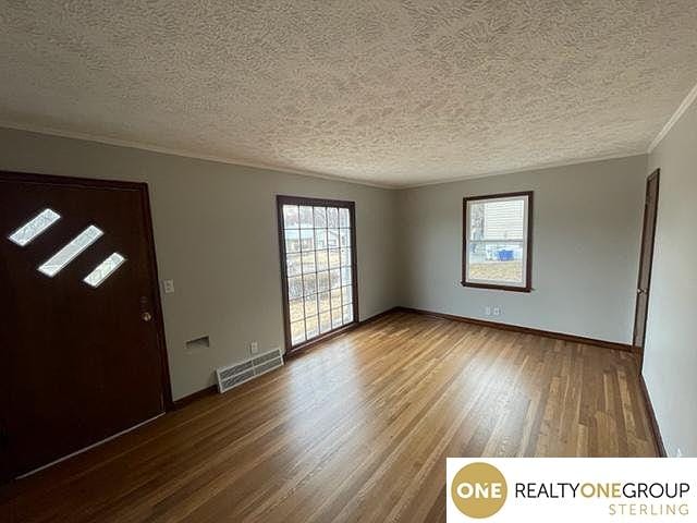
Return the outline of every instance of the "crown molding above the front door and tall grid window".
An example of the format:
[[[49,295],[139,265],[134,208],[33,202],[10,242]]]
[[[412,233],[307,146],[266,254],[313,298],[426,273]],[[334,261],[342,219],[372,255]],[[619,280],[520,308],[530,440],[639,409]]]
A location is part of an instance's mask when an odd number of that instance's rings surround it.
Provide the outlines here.
[[[131,142],[127,139],[120,139],[120,138],[111,138],[108,136],[101,136],[97,134],[64,131],[61,129],[46,127],[41,125],[27,125],[24,123],[0,120],[0,127],[11,129],[15,131],[26,131],[29,133],[46,134],[49,136],[58,136],[61,138],[81,139],[84,142],[95,142],[98,144],[113,145],[117,147],[127,147],[131,149],[147,150],[150,153],[159,153],[162,155],[180,156],[180,157],[192,158],[196,160],[215,161],[217,163],[225,163],[230,166],[252,167],[255,169],[266,169],[266,170],[276,171],[276,172],[283,172],[286,174],[298,174],[301,177],[319,178],[321,180],[351,183],[353,185],[366,185],[369,187],[377,187],[377,188],[399,188],[398,185],[366,182],[362,180],[355,180],[352,178],[338,177],[333,174],[325,174],[321,172],[315,172],[315,171],[309,171],[304,169],[288,169],[284,167],[274,167],[268,163],[252,162],[246,160],[240,160],[236,158],[227,158],[227,157],[215,156],[215,155],[201,155],[198,153],[193,153],[191,150],[176,149],[172,147],[161,147],[159,145],[144,144],[140,142]]]

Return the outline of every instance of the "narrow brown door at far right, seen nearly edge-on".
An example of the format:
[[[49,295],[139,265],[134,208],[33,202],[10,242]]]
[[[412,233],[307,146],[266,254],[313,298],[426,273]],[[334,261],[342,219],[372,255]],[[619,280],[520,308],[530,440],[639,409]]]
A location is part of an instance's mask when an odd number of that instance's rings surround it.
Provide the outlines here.
[[[646,339],[646,318],[651,290],[651,265],[653,263],[653,239],[658,212],[658,185],[660,171],[657,169],[646,181],[646,203],[644,206],[644,232],[639,258],[639,278],[636,289],[636,312],[634,317],[634,346],[644,361],[644,341]]]

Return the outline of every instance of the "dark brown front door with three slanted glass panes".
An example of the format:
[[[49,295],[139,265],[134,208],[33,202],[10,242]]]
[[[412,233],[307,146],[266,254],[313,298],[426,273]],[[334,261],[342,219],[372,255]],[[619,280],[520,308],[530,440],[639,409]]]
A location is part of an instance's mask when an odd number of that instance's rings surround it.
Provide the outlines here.
[[[169,402],[147,186],[0,173],[2,477]]]

